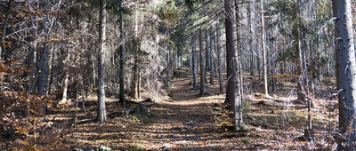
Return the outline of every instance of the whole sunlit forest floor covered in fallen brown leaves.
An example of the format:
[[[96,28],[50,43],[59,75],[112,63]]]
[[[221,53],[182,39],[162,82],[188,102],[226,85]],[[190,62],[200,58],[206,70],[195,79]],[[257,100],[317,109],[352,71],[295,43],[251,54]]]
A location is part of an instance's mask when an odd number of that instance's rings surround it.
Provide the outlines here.
[[[324,80],[318,95],[312,97],[313,141],[305,139],[307,124],[306,104],[295,98],[295,81],[285,75],[278,78],[278,92],[265,98],[258,76],[245,76],[243,102],[246,131],[231,131],[231,118],[223,104],[218,81],[208,85],[209,95],[199,97],[187,70],[177,71],[166,96],[147,96],[155,101],[150,107],[153,117],[121,115],[108,117],[107,123],[93,121],[96,98],[85,100],[85,112],[77,107],[58,109],[48,119],[68,124],[65,142],[71,148],[99,147],[114,150],[260,150],[260,149],[332,149],[336,130],[336,99],[328,99],[335,92],[335,82]],[[215,78],[217,79],[217,78]],[[168,97],[169,96],[169,97]],[[81,102],[79,102],[81,104]],[[134,105],[131,106],[133,108]],[[130,108],[130,107],[128,107]],[[107,112],[122,112],[117,99],[107,99]],[[77,115],[79,123],[73,124]],[[83,119],[91,119],[85,121]]]

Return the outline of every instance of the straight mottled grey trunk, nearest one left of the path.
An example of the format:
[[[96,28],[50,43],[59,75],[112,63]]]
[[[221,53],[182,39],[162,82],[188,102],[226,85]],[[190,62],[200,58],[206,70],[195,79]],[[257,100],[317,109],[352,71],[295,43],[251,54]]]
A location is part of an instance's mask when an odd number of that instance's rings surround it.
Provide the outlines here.
[[[97,120],[99,123],[106,121],[105,108],[105,82],[104,82],[104,64],[105,64],[105,40],[106,40],[106,0],[100,1],[99,12],[99,44],[100,50],[98,55],[98,114]]]

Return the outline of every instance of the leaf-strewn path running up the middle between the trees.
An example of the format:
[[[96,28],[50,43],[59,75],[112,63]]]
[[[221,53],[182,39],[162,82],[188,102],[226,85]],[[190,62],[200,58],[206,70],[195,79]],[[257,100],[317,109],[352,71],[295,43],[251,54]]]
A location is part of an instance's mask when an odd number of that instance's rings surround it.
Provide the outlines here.
[[[142,149],[169,150],[221,150],[219,129],[214,120],[214,104],[223,96],[200,98],[199,91],[191,90],[191,77],[182,70],[180,77],[174,78],[170,90],[172,97],[158,101],[151,108],[154,115],[151,124],[137,126],[133,135]],[[216,87],[208,88],[216,91]],[[140,138],[140,139],[139,139]]]

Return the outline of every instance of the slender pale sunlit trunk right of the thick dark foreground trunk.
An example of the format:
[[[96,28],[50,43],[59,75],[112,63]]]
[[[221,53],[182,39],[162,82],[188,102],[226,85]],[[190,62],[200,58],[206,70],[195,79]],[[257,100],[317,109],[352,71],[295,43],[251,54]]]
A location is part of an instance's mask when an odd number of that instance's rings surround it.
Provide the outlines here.
[[[266,58],[266,42],[264,38],[264,14],[263,14],[263,0],[261,0],[261,43],[262,43],[262,63],[263,63],[263,93],[268,96],[268,83],[267,83],[267,58]]]

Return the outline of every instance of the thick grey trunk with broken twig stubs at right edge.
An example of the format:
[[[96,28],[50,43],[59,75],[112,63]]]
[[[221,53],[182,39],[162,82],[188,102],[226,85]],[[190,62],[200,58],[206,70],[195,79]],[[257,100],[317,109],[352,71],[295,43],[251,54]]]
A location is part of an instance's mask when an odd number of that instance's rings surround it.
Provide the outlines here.
[[[350,0],[333,0],[336,44],[336,83],[339,101],[339,128],[346,142],[338,142],[340,150],[355,150],[356,140],[356,62]],[[343,144],[344,143],[344,144]],[[343,146],[344,145],[344,146]]]

